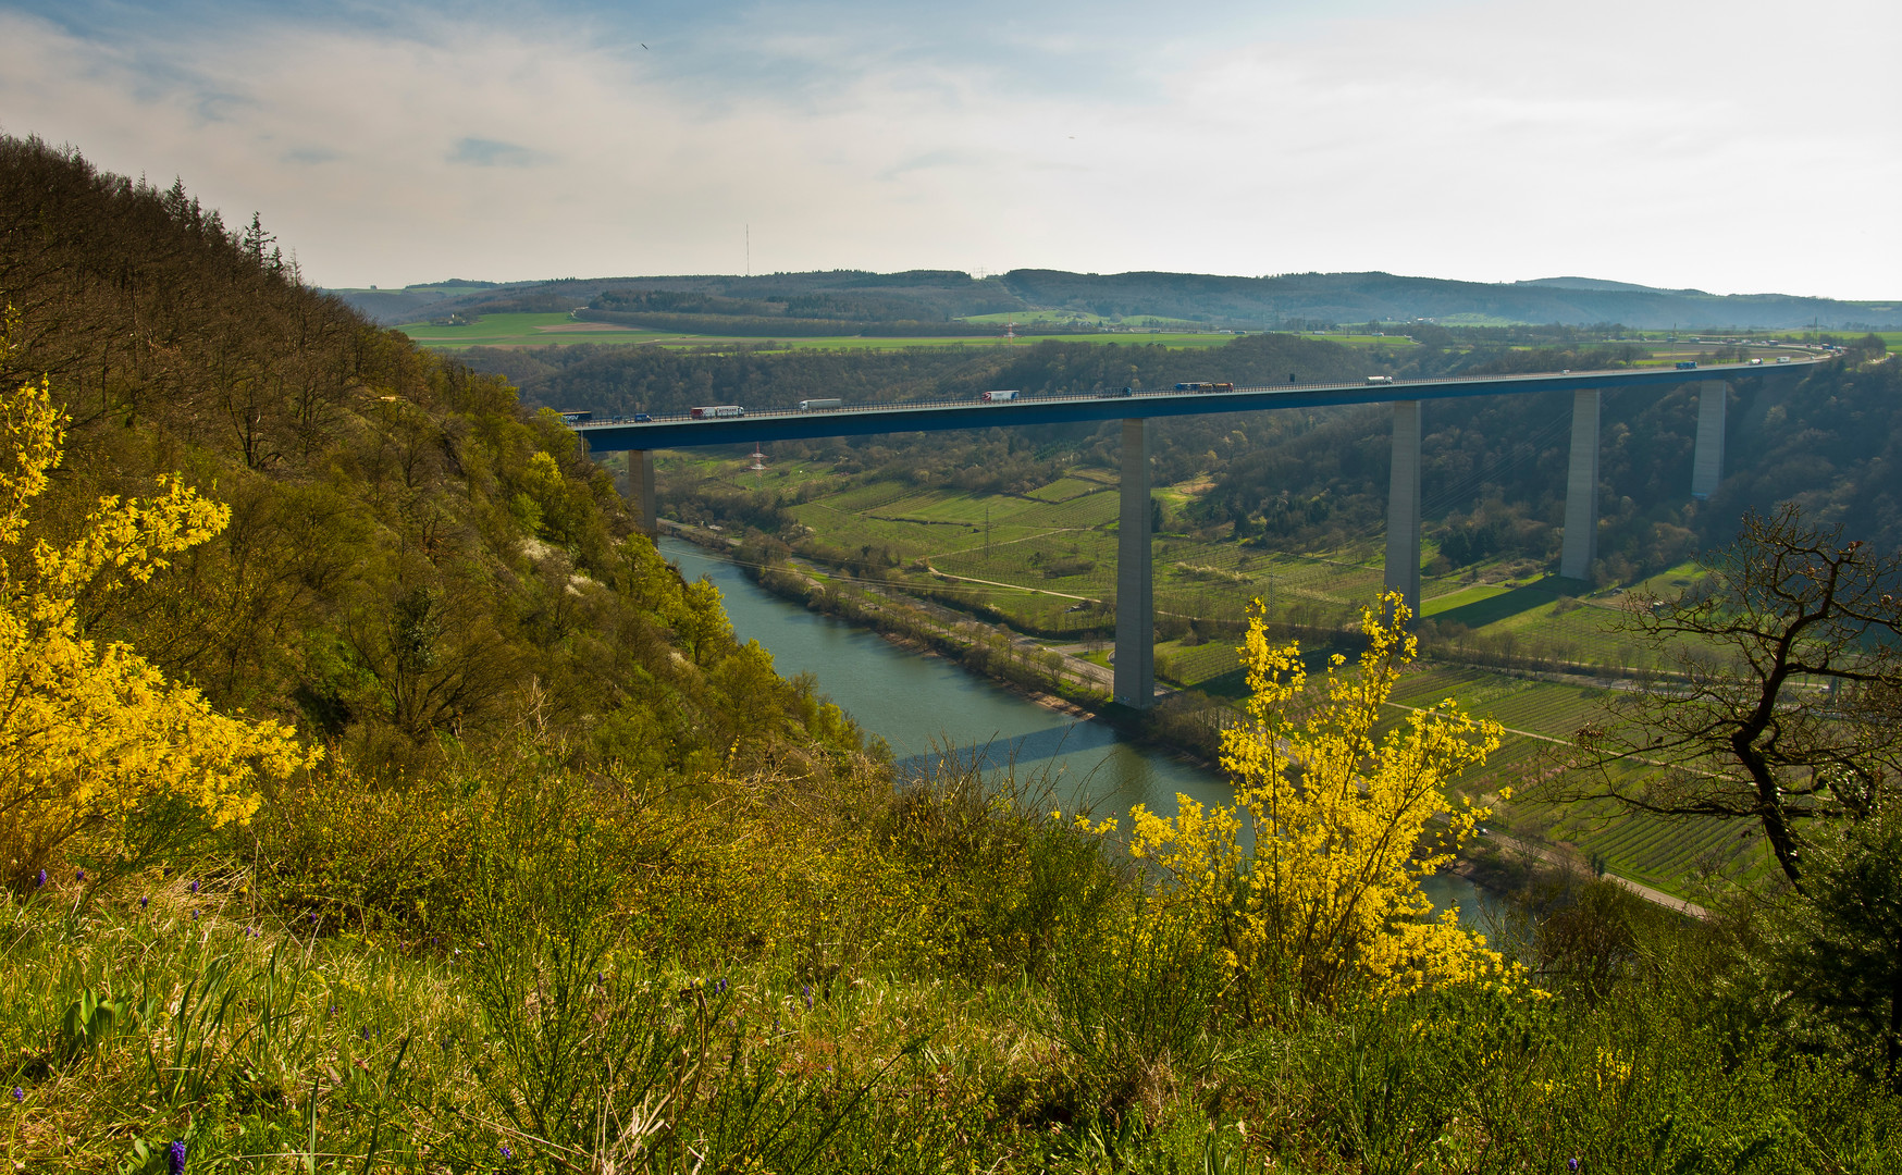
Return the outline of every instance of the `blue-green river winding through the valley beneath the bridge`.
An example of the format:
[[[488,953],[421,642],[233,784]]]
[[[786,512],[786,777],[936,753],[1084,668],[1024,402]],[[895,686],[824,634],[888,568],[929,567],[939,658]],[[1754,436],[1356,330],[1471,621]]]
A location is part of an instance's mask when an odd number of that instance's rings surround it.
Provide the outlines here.
[[[662,538],[660,553],[689,580],[719,588],[732,629],[759,641],[782,677],[812,673],[820,692],[867,732],[890,743],[900,770],[928,770],[941,755],[976,759],[1012,770],[1019,781],[1048,785],[1073,812],[1086,804],[1097,819],[1115,816],[1128,829],[1135,804],[1174,816],[1177,795],[1200,804],[1227,804],[1232,791],[1217,772],[1126,740],[1115,726],[1046,709],[964,667],[835,616],[810,612],[747,580],[732,561],[679,538]],[[1457,901],[1478,913],[1478,892],[1459,876],[1428,878],[1436,905]]]

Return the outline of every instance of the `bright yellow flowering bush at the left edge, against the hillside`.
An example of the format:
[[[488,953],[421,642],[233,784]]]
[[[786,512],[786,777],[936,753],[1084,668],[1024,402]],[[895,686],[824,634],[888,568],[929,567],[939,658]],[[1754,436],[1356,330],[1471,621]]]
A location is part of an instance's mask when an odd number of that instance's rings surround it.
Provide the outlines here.
[[[179,797],[213,825],[247,819],[259,774],[316,762],[289,726],[219,715],[126,645],[80,626],[82,591],[146,582],[230,511],[173,479],[152,498],[101,498],[78,538],[30,532],[30,506],[65,445],[46,382],[0,394],[0,846],[13,884],[78,835],[120,844],[124,819]]]

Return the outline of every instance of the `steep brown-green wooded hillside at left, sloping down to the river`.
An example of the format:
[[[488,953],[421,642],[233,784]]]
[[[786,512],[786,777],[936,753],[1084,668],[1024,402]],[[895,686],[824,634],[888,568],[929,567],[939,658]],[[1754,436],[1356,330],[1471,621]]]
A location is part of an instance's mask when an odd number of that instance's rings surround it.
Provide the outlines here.
[[[150,584],[86,601],[93,639],[215,705],[369,772],[531,713],[652,770],[770,753],[782,730],[854,743],[631,534],[573,433],[301,285],[255,219],[4,139],[0,300],[0,386],[44,376],[72,416],[48,534],[173,470],[230,506]]]

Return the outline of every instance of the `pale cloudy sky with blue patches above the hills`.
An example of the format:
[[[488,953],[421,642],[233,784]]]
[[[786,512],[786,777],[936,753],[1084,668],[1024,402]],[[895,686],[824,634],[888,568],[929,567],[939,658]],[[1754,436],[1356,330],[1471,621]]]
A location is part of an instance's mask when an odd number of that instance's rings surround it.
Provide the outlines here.
[[[0,131],[304,279],[1012,268],[1902,297],[1894,0],[0,0]]]

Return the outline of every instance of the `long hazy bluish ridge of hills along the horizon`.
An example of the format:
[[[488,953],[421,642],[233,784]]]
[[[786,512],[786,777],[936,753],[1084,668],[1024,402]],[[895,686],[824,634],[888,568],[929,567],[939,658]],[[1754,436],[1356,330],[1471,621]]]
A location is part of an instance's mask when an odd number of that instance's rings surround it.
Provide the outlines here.
[[[668,295],[668,329],[690,314],[734,316],[740,302],[753,318],[825,321],[947,321],[978,314],[1075,310],[1103,318],[1175,318],[1210,327],[1282,327],[1290,323],[1415,321],[1562,323],[1685,331],[1750,327],[1832,331],[1902,329],[1902,299],[1845,302],[1795,295],[1710,295],[1698,289],[1655,289],[1600,278],[1537,278],[1484,283],[1394,274],[1282,274],[1225,278],[1215,274],[1071,274],[1012,270],[976,279],[959,270],[824,270],[757,278],[696,274],[654,278],[565,278],[559,281],[437,281],[401,291],[331,291],[382,323],[451,314],[506,310],[620,312]],[[713,331],[709,333],[728,333]]]

